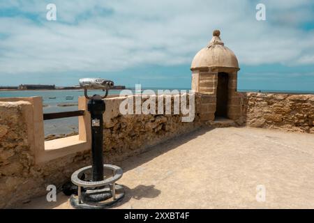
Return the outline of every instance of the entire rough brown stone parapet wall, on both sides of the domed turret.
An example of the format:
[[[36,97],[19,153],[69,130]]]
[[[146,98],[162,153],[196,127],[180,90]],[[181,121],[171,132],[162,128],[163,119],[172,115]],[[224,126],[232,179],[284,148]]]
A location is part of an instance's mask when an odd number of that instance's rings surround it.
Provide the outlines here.
[[[245,125],[314,133],[314,95],[237,94],[241,99],[239,115],[242,114]],[[172,111],[175,97],[170,100]],[[122,115],[119,105],[124,99],[106,99],[104,158],[112,164],[199,128],[213,118],[216,109],[214,95],[196,93],[195,118],[193,122],[183,123],[182,114],[173,112]],[[73,171],[91,163],[87,150],[36,164],[35,151],[30,146],[29,125],[33,122],[29,121],[29,111],[32,111],[31,100],[0,102],[0,208],[14,207],[46,194],[50,184],[60,189]]]

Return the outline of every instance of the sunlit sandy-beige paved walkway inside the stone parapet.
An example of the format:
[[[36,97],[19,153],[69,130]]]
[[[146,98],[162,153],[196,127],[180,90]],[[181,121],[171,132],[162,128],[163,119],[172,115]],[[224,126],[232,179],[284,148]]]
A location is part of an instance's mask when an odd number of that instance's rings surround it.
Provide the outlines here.
[[[203,128],[121,167],[126,197],[117,208],[314,208],[314,134]],[[70,208],[68,197],[57,198],[23,208]]]

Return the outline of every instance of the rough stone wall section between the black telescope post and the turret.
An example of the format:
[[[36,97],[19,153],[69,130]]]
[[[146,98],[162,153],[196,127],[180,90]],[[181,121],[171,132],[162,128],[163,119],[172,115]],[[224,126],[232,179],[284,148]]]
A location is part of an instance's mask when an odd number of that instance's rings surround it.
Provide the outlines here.
[[[110,111],[106,111],[104,116],[104,151],[109,154],[117,153],[119,157],[126,157],[200,127],[200,116],[202,116],[200,114],[200,94],[195,95],[193,122],[182,122],[182,114],[173,114],[174,97],[177,96],[169,97],[172,114],[165,114],[167,103],[166,100],[163,100],[163,114],[158,114],[156,105],[156,114],[121,115],[119,105],[125,98],[107,99],[106,106],[110,108]],[[145,100],[142,99],[142,103]]]

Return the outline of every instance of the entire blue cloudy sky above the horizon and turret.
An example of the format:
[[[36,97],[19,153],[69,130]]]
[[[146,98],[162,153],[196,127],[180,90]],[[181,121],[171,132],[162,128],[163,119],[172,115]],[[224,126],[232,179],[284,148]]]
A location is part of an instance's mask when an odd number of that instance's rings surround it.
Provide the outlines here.
[[[238,89],[314,91],[313,0],[1,0],[0,86],[103,77],[190,88],[190,63],[214,29],[237,56]]]

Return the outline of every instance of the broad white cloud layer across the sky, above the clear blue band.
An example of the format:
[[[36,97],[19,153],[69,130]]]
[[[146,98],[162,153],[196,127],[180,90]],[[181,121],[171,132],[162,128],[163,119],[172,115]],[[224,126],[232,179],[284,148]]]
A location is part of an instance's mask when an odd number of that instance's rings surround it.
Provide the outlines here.
[[[47,3],[0,3],[2,73],[188,64],[214,29],[240,66],[314,63],[314,33],[300,28],[313,21],[311,1],[264,1],[267,21],[261,22],[255,20],[258,1],[60,0],[54,1],[56,22],[45,20]]]

